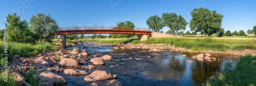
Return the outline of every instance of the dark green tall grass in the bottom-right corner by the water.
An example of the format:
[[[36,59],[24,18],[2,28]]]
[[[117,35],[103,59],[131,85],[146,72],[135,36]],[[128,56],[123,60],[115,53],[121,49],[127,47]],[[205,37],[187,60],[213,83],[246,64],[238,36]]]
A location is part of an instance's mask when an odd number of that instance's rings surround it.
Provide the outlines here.
[[[235,67],[226,63],[224,71],[217,73],[203,85],[256,85],[256,56],[242,56]]]

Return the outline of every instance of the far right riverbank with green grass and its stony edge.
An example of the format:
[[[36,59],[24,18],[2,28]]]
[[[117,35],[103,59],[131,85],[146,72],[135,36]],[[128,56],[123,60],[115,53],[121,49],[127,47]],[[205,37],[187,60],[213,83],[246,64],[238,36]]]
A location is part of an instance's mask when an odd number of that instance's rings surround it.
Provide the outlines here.
[[[102,45],[118,47],[116,49],[148,49],[163,50],[171,52],[195,52],[195,53],[216,53],[245,56],[256,55],[256,40],[254,38],[149,38],[146,41],[137,39],[86,39]],[[119,43],[117,43],[119,42]],[[144,47],[144,48],[143,48]]]

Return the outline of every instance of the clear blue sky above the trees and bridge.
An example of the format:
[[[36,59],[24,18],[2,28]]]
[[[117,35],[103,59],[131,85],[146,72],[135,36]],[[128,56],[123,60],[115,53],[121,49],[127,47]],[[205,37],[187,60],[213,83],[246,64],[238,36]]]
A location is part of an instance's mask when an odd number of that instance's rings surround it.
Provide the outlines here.
[[[216,10],[224,15],[222,28],[225,31],[246,32],[256,26],[255,0],[2,0],[0,29],[5,27],[8,13],[13,12],[27,22],[37,13],[50,14],[59,27],[116,26],[117,22],[129,20],[136,27],[147,28],[146,19],[152,15],[161,17],[162,13],[174,12],[189,22],[190,12],[199,7]],[[162,31],[167,30],[165,27]],[[189,25],[185,31],[188,30]]]

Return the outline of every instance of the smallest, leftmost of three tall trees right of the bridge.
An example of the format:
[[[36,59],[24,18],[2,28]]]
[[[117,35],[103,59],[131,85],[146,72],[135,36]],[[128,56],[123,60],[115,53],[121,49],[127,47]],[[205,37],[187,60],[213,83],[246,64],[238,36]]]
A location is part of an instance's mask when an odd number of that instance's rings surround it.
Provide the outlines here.
[[[146,25],[154,32],[159,32],[164,27],[162,18],[157,15],[150,16],[146,20]]]

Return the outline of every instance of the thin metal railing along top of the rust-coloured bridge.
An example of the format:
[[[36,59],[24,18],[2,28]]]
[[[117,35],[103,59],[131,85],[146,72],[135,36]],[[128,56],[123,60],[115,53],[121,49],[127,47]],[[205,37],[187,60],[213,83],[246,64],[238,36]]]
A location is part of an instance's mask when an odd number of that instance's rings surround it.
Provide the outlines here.
[[[58,31],[69,30],[135,30],[135,31],[150,31],[149,28],[121,28],[116,26],[74,26],[74,27],[60,27]]]

